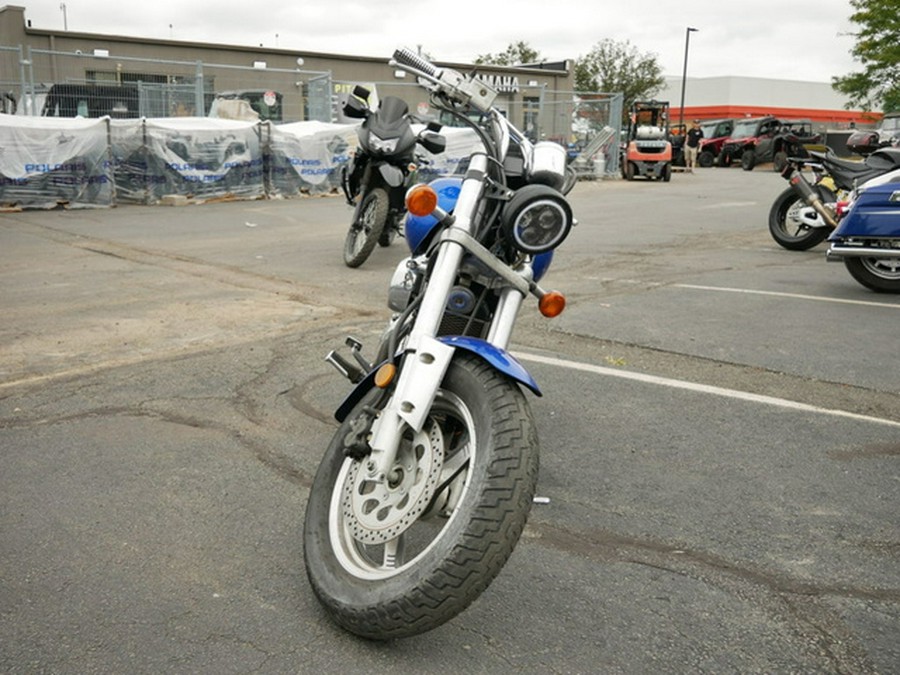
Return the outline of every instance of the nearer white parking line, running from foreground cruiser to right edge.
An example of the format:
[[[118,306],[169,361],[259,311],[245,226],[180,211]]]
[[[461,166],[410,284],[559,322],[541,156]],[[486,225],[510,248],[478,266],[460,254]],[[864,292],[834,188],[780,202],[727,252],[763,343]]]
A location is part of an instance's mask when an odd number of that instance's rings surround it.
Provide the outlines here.
[[[696,382],[686,382],[684,380],[673,380],[667,377],[657,377],[655,375],[645,375],[643,373],[633,373],[627,370],[619,370],[617,368],[606,368],[604,366],[596,366],[591,363],[580,363],[578,361],[567,361],[557,359],[552,356],[540,356],[538,354],[526,354],[524,352],[515,352],[513,354],[521,361],[532,361],[534,363],[544,363],[559,368],[568,368],[569,370],[578,370],[583,373],[593,373],[595,375],[603,375],[606,377],[618,377],[623,380],[632,380],[634,382],[644,382],[646,384],[655,384],[661,387],[672,387],[674,389],[683,389],[686,391],[698,392],[701,394],[712,394],[713,396],[723,396],[725,398],[737,399],[740,401],[748,401],[750,403],[761,403],[763,405],[774,405],[779,408],[788,408],[790,410],[798,410],[801,412],[818,413],[822,415],[831,415],[832,417],[846,417],[848,419],[860,422],[874,422],[876,424],[886,424],[892,427],[900,428],[900,422],[885,419],[883,417],[871,417],[869,415],[859,415],[857,413],[848,412],[846,410],[834,410],[831,408],[820,408],[819,406],[800,403],[798,401],[789,401],[784,398],[776,398],[774,396],[763,396],[761,394],[751,394],[747,391],[738,391],[737,389],[725,389],[723,387],[713,387],[708,384],[697,384]]]

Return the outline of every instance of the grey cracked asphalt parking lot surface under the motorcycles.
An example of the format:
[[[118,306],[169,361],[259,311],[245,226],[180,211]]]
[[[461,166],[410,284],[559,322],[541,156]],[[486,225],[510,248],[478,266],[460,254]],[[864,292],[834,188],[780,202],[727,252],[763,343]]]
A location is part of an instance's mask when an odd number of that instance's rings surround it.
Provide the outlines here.
[[[760,167],[580,183],[514,349],[538,493],[465,613],[389,644],[307,585],[309,482],[403,251],[337,197],[0,214],[0,670],[889,673],[900,297],[766,228]]]

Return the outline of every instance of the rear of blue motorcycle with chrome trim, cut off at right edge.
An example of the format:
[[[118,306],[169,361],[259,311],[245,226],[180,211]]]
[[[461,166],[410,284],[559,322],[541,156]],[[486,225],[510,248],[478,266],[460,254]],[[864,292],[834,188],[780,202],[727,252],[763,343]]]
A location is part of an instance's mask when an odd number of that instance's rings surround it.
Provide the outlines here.
[[[900,293],[900,169],[870,180],[838,209],[827,259],[879,293]]]

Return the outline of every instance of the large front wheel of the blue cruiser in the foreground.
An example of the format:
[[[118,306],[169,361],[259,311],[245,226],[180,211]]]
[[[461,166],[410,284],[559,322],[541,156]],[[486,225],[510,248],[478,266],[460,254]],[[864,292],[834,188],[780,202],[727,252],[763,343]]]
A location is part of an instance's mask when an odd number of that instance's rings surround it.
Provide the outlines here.
[[[521,390],[469,355],[451,362],[422,432],[409,431],[385,484],[335,434],[310,490],[306,571],[331,618],[388,640],[436,628],[506,563],[538,474],[534,420]]]

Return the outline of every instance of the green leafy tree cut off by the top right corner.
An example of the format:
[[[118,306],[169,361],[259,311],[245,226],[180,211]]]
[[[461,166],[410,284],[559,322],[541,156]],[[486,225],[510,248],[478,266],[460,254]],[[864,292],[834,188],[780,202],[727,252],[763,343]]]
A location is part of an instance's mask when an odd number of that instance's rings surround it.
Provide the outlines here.
[[[900,12],[897,0],[850,0],[850,20],[859,26],[850,50],[863,70],[834,77],[835,90],[850,97],[848,108],[900,110]]]

